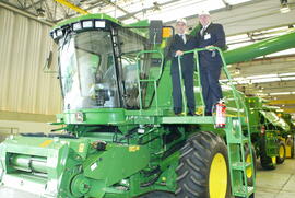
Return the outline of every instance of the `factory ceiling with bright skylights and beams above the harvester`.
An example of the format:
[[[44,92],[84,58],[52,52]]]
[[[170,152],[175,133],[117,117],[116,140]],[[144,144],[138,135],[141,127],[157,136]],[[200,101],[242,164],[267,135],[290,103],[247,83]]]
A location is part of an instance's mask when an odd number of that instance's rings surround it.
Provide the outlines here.
[[[229,49],[294,31],[295,0],[0,0],[40,22],[56,24],[81,13],[106,13],[126,24],[161,19],[173,25],[186,18],[192,28],[198,12],[209,10],[225,27]],[[68,7],[64,5],[68,3]],[[282,10],[287,5],[287,11]],[[82,12],[78,12],[81,9]],[[177,14],[176,14],[177,13]],[[295,113],[295,49],[229,66],[237,88]]]

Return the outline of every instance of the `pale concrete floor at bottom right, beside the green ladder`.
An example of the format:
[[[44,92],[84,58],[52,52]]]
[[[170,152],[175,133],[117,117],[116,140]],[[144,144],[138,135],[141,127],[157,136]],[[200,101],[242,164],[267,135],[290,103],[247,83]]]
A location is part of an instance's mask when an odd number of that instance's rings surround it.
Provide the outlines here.
[[[286,159],[273,171],[258,165],[256,186],[255,198],[295,198],[295,159]]]

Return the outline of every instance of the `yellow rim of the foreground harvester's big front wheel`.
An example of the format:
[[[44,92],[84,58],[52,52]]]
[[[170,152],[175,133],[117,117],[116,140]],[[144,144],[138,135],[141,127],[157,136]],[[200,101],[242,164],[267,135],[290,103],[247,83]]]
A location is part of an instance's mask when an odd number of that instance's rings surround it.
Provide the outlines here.
[[[210,198],[224,198],[227,191],[227,165],[225,158],[216,153],[212,160],[209,175]]]

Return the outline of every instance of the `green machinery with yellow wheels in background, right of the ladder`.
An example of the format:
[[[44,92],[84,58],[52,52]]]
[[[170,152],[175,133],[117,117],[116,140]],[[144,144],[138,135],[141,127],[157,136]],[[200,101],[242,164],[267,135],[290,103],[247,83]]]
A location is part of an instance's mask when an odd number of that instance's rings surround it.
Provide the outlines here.
[[[249,109],[251,141],[260,156],[261,166],[275,168],[287,156],[294,154],[294,128],[291,115],[279,107],[268,106],[260,97],[246,97]]]

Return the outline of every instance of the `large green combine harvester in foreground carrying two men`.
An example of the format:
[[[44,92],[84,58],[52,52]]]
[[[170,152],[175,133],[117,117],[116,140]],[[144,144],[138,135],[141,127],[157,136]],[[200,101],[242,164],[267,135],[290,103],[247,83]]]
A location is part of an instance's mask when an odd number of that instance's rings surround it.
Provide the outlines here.
[[[173,34],[161,21],[125,26],[105,14],[54,27],[64,110],[52,125],[63,127],[1,143],[0,190],[59,198],[253,197],[245,96],[233,83],[223,84],[226,117],[216,109],[204,116],[196,72],[201,115],[175,116],[165,58]],[[232,82],[226,63],[294,47],[294,38],[292,32],[226,51],[223,72]],[[187,51],[197,66],[201,50],[206,49]]]

